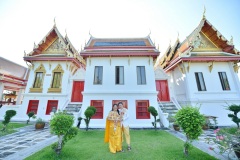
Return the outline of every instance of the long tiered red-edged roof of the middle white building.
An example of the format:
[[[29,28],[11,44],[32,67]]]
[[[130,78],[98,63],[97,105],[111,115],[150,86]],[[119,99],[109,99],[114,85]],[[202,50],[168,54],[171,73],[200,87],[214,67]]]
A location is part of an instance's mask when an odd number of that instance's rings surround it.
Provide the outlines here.
[[[80,55],[83,58],[150,56],[155,59],[159,51],[149,36],[144,38],[94,38],[91,36]]]

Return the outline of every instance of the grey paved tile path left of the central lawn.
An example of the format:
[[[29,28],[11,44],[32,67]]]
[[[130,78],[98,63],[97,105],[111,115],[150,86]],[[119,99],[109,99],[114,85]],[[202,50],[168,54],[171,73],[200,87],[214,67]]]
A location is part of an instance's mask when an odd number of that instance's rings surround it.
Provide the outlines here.
[[[19,128],[16,133],[0,137],[0,160],[22,160],[56,141],[48,125],[43,130],[33,125]]]

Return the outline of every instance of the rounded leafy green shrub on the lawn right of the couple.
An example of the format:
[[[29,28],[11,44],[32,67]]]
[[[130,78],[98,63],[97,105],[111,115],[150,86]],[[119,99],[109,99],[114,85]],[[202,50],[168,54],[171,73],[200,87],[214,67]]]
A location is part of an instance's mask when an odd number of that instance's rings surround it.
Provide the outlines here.
[[[198,139],[202,134],[202,125],[205,123],[205,117],[200,114],[199,108],[192,106],[185,106],[180,109],[176,115],[176,121],[186,134],[187,141],[185,142],[185,154],[188,155],[188,143],[192,140]]]

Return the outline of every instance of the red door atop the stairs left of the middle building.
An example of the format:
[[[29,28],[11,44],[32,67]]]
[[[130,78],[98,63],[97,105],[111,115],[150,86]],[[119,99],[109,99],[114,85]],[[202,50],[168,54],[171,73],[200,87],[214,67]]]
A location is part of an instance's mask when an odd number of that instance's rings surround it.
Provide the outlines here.
[[[72,102],[82,102],[84,90],[84,81],[74,81],[72,89]]]

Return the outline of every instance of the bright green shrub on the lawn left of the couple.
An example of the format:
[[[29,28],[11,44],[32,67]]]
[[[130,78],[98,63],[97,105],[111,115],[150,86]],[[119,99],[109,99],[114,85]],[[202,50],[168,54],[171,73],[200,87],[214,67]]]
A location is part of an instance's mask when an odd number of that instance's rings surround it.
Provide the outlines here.
[[[73,116],[61,111],[55,113],[50,120],[51,133],[58,136],[58,142],[52,145],[57,155],[61,153],[64,144],[77,135],[78,129],[72,127],[73,123]]]

